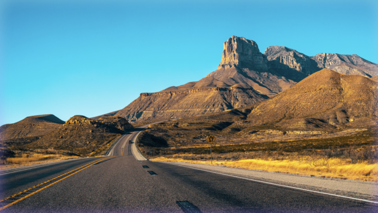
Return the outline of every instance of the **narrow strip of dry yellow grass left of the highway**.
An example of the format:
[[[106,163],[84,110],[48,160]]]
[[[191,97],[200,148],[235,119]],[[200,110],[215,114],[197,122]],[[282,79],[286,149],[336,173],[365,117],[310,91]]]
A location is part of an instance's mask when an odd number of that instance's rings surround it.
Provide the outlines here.
[[[67,160],[73,158],[81,158],[78,156],[65,156],[61,154],[22,154],[19,156],[6,158],[5,164],[0,165],[0,169],[13,168],[18,166],[27,166],[38,163],[46,163],[58,160]]]

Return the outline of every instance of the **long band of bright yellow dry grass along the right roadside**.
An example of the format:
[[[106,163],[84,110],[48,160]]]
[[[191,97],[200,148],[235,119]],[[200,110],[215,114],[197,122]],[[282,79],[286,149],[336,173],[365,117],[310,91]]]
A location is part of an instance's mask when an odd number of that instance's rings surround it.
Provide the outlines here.
[[[188,162],[196,164],[210,164],[210,161],[183,160],[181,158],[158,157],[151,161]],[[242,168],[249,170],[262,170],[268,172],[290,173],[298,175],[311,175],[325,178],[341,178],[364,181],[378,181],[378,164],[361,162],[351,164],[346,159],[330,158],[312,160],[301,158],[299,160],[262,160],[247,159],[239,161],[213,161],[214,165]]]

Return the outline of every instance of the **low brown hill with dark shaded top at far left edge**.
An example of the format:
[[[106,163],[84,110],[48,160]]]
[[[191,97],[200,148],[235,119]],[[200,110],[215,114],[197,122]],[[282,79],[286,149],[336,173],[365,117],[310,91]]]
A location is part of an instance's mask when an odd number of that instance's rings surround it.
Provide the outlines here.
[[[1,144],[25,144],[35,141],[64,124],[64,121],[55,115],[35,115],[0,127]]]

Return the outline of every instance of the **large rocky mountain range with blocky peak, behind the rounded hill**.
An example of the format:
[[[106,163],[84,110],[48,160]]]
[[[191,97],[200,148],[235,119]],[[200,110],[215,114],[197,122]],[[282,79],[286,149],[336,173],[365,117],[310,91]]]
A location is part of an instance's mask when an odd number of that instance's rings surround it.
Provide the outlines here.
[[[258,45],[231,36],[223,43],[216,71],[199,81],[172,86],[158,93],[141,93],[115,116],[129,121],[166,119],[224,111],[274,97],[323,68],[371,77],[378,65],[357,55],[317,54],[306,56],[293,49]]]

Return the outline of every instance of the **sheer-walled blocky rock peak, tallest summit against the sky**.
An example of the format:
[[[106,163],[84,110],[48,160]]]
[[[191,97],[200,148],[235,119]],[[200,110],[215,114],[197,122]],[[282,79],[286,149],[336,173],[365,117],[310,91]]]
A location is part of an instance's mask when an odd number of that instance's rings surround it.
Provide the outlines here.
[[[222,60],[218,70],[231,67],[267,69],[265,61],[256,42],[244,37],[231,36],[223,43]]]

